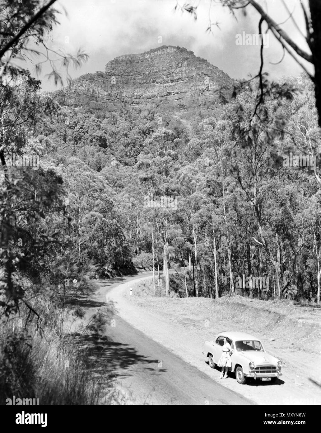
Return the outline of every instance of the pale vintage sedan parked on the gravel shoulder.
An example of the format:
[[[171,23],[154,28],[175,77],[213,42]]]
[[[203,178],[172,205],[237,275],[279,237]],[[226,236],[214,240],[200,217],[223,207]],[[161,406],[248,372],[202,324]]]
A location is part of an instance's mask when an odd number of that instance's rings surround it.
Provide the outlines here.
[[[282,376],[282,362],[266,353],[260,339],[243,332],[221,332],[213,341],[205,341],[203,355],[211,368],[221,358],[224,338],[231,345],[232,365],[228,370],[235,372],[238,383],[244,384],[247,378],[272,382]]]

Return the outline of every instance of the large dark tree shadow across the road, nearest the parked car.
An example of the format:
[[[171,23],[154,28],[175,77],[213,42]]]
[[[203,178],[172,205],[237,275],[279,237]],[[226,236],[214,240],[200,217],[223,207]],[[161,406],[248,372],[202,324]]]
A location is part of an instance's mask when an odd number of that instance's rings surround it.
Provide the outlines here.
[[[114,378],[130,376],[131,369],[138,363],[143,369],[166,372],[158,368],[158,359],[150,359],[139,355],[138,351],[129,344],[113,341],[107,336],[73,334],[79,344],[79,349],[85,356],[87,366],[96,374],[108,375]]]

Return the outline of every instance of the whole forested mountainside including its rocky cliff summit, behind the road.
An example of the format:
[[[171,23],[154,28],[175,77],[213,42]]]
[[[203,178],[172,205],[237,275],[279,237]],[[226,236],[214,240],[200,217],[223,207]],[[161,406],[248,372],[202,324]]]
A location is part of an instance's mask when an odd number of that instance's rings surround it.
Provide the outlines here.
[[[185,266],[180,296],[319,299],[313,85],[284,78],[256,108],[255,83],[231,97],[236,84],[184,48],[161,47],[52,95],[55,119],[43,118],[28,146],[45,148],[41,167],[63,180],[59,236],[77,244],[82,266],[100,276],[151,269],[154,247],[158,278]],[[291,155],[315,158],[295,167]],[[157,203],[162,196],[177,197],[177,208]],[[243,275],[269,277],[269,290]]]

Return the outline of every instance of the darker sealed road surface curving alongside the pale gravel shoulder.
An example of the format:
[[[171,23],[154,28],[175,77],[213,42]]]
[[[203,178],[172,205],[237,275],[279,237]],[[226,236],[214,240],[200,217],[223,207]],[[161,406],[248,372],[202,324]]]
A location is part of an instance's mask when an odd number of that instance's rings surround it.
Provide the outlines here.
[[[117,295],[137,278],[141,275],[100,281],[93,305],[106,298],[117,301]],[[116,307],[122,315],[122,305]],[[254,404],[216,383],[119,315],[113,324],[107,333],[110,343],[106,350],[113,359],[116,379],[132,404]]]

